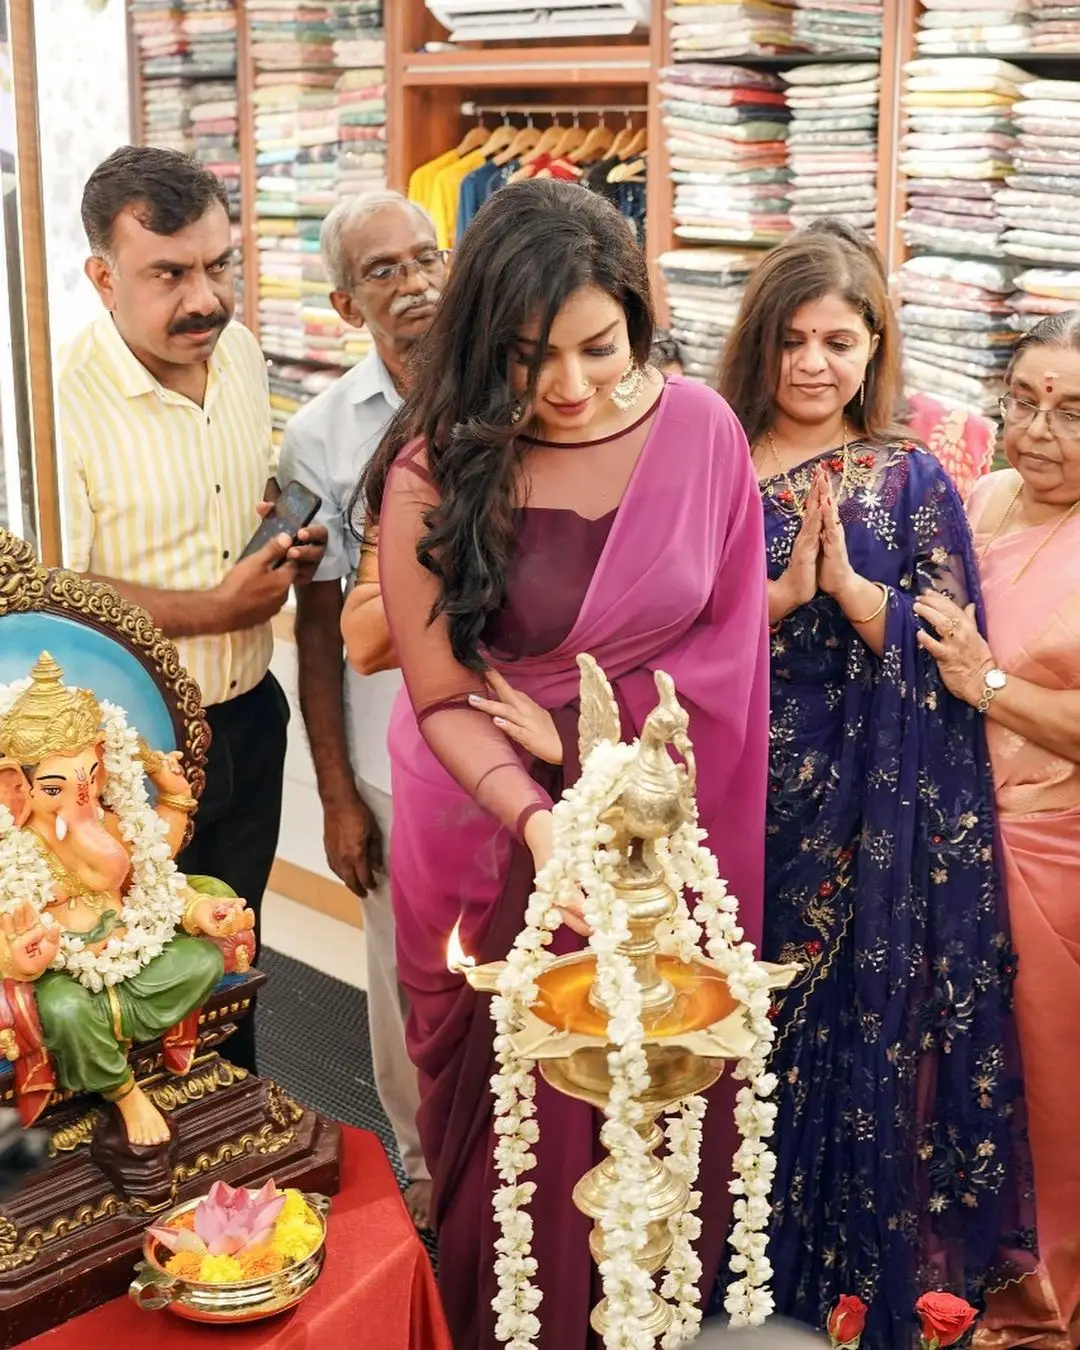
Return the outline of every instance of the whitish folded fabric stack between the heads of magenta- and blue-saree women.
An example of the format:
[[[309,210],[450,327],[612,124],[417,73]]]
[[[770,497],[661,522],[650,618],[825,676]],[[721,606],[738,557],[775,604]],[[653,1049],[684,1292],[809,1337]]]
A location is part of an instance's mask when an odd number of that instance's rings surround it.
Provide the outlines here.
[[[675,248],[660,256],[670,332],[693,379],[713,382],[759,256],[729,248]]]

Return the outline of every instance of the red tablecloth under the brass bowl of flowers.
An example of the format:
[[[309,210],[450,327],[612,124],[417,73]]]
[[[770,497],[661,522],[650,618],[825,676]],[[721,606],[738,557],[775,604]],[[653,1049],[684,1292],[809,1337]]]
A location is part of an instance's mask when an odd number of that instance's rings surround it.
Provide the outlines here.
[[[27,1350],[308,1350],[359,1341],[378,1350],[452,1350],[428,1256],[401,1200],[382,1145],[343,1129],[342,1191],[333,1197],[327,1265],[293,1312],[247,1327],[205,1327],[174,1314],[142,1312],[115,1299]],[[132,1262],[134,1273],[134,1262]],[[378,1330],[375,1330],[378,1328]]]

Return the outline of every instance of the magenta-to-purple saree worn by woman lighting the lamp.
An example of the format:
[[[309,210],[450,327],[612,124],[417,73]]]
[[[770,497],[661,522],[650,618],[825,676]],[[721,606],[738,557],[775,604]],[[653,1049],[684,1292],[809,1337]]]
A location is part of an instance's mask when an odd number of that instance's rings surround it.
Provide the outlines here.
[[[560,452],[552,456],[556,463]],[[571,450],[571,455],[582,456],[582,464],[585,456],[602,452],[590,446]],[[394,475],[402,473],[398,462]],[[477,803],[498,772],[444,753],[443,741],[428,730],[423,701],[420,721],[413,711],[425,670],[417,657],[410,671],[406,653],[413,644],[398,640],[406,603],[400,583],[402,555],[397,555],[397,564],[387,564],[394,556],[393,536],[401,529],[398,513],[405,510],[404,500],[396,505],[387,491],[379,522],[383,597],[408,686],[390,728],[390,872],[398,972],[410,1002],[406,1034],[420,1073],[418,1125],[435,1183],[439,1278],[451,1332],[456,1350],[489,1350],[495,1345],[491,1197],[497,1180],[489,1087],[493,1023],[489,1000],[475,995],[460,975],[447,971],[447,938],[460,918],[462,942],[470,954],[482,961],[505,956],[521,927],[532,860],[516,838],[514,813],[504,813],[500,819],[494,809]],[[549,524],[558,525],[559,510],[572,508],[535,509],[525,516],[533,522],[536,517],[551,517]],[[528,525],[529,520],[522,540]],[[567,585],[560,568],[570,566],[564,555],[571,552],[574,537],[575,525],[564,518],[559,526],[564,547],[551,551],[543,562],[545,591],[558,593]],[[548,799],[544,792],[556,796],[563,782],[572,782],[579,772],[579,652],[591,652],[608,672],[628,736],[640,730],[655,705],[653,672],[667,671],[690,711],[702,825],[722,875],[740,898],[747,934],[757,941],[768,738],[764,532],[745,437],[718,396],[679,379],[667,383],[598,558],[564,640],[543,655],[514,660],[489,653],[517,688],[554,711],[566,748],[559,770],[524,757],[512,770],[528,771],[541,802]],[[509,610],[520,605],[517,586],[512,576]],[[468,680],[462,693],[467,686]],[[439,709],[436,716],[443,716]],[[463,732],[463,721],[479,714],[460,709],[448,716],[459,718],[455,734],[474,737],[474,760],[482,757],[485,728],[474,724]],[[425,736],[440,745],[440,757]],[[452,764],[456,778],[444,763]],[[504,782],[513,778],[505,764],[494,770],[500,767]],[[470,790],[460,786],[462,780]],[[572,949],[578,941],[563,930],[556,950]],[[730,1080],[721,1081],[713,1096],[699,1181],[705,1193],[699,1245],[703,1296],[711,1291],[722,1260],[732,1204],[726,1183],[737,1142]],[[533,1253],[544,1291],[540,1346],[586,1350],[598,1343],[589,1330],[589,1311],[599,1291],[589,1256],[589,1224],[574,1208],[571,1189],[598,1161],[599,1120],[587,1106],[556,1095],[543,1083],[537,1103],[541,1141],[532,1212]]]

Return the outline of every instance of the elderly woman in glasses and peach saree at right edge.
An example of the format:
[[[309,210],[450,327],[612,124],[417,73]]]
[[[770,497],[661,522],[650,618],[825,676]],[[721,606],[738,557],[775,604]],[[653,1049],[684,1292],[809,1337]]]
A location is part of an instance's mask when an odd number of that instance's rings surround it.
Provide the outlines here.
[[[968,504],[987,613],[923,595],[942,679],[987,716],[1018,953],[1017,1022],[1041,1264],[987,1303],[977,1350],[1080,1345],[1080,312],[1018,346],[1013,467]]]

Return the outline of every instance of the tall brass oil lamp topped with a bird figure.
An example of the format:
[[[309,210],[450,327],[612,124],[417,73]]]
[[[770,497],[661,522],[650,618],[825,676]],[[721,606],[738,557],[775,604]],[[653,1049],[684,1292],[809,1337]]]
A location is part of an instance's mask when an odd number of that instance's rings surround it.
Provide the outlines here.
[[[585,764],[599,740],[620,740],[618,707],[610,686],[590,656],[579,657],[580,759]],[[648,1150],[643,1203],[648,1207],[648,1238],[637,1261],[655,1276],[672,1249],[670,1220],[687,1208],[690,1187],[656,1156],[663,1142],[657,1120],[684,1098],[703,1092],[724,1073],[728,1061],[749,1054],[755,1037],[747,1008],[728,988],[721,968],[705,954],[690,961],[662,950],[660,933],[676,913],[678,899],[667,883],[656,853],[660,840],[695,818],[695,761],[687,736],[688,717],[679,706],[671,679],[656,676],[660,701],[641,732],[637,756],[624,774],[618,795],[599,821],[614,830],[618,864],[613,884],[629,910],[630,940],[621,950],[629,957],[641,987],[641,1022],[649,1085],[639,1099],[644,1118],[639,1126]],[[674,747],[682,756],[678,764]],[[462,971],[474,990],[494,994],[504,961],[477,965],[451,936],[450,964]],[[770,967],[770,984],[783,988],[795,967]],[[595,987],[597,957],[590,950],[552,961],[537,977],[539,996],[524,1025],[512,1035],[516,1053],[533,1060],[554,1088],[589,1102],[603,1111],[612,1089],[608,1056],[616,1048],[608,1040],[608,1011]],[[543,1122],[541,1122],[543,1125]],[[593,1260],[603,1260],[599,1218],[614,1185],[612,1141],[601,1129],[609,1156],[591,1168],[574,1188],[574,1204],[594,1220],[590,1237]],[[657,1339],[671,1324],[672,1308],[653,1288],[652,1305],[643,1330]],[[609,1324],[606,1300],[593,1310],[593,1328],[603,1335]]]

